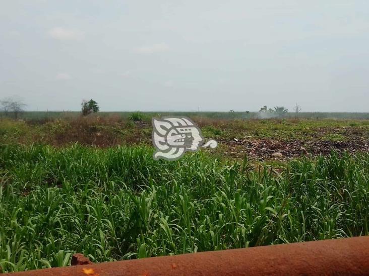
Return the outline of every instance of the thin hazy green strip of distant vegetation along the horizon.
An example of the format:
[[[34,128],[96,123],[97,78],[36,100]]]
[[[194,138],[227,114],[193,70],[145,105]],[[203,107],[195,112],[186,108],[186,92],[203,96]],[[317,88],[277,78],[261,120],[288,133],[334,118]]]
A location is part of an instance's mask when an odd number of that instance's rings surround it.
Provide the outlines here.
[[[129,118],[133,112],[98,112],[94,116],[117,116],[120,118]],[[145,117],[162,117],[162,116],[187,116],[187,117],[204,117],[210,119],[264,119],[264,115],[260,112],[142,112]],[[58,118],[79,117],[79,111],[27,111],[19,114],[19,119],[23,120],[52,120]],[[0,118],[10,117],[8,112],[0,112]],[[363,112],[288,112],[284,118],[301,118],[301,119],[369,119],[369,113]]]

